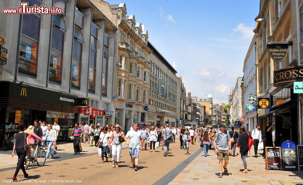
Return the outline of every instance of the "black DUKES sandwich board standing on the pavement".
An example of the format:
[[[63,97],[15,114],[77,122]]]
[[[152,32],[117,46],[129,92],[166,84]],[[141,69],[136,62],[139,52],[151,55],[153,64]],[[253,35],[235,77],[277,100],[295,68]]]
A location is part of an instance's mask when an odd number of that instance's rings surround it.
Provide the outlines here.
[[[266,170],[282,170],[281,147],[265,147]]]

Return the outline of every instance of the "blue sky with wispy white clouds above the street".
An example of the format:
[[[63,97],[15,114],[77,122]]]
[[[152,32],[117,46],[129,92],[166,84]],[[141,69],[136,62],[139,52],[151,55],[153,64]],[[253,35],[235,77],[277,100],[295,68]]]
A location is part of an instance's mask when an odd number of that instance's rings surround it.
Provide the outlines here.
[[[110,4],[121,1],[110,0]],[[188,2],[188,3],[187,3]],[[243,76],[259,1],[125,0],[127,14],[148,30],[151,43],[176,63],[186,92],[227,103],[230,87]]]

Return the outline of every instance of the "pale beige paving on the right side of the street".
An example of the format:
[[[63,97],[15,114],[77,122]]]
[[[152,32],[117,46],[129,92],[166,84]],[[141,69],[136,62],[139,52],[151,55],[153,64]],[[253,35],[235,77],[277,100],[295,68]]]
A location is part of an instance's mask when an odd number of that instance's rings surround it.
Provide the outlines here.
[[[251,149],[253,155],[254,149]],[[259,151],[263,152],[263,151]],[[211,185],[298,185],[303,184],[303,173],[299,171],[265,170],[265,159],[259,155],[258,158],[246,158],[249,172],[241,173],[244,170],[241,155],[229,157],[227,166],[228,174],[218,178],[219,160],[214,150],[208,150],[208,156],[201,152],[184,170],[181,171],[169,185],[189,184],[211,184]]]

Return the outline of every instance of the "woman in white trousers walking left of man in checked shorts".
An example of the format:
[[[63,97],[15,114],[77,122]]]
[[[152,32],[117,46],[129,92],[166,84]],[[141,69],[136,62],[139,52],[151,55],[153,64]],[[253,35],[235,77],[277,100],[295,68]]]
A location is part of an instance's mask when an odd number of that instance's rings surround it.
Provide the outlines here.
[[[118,168],[118,164],[120,162],[121,150],[122,150],[122,142],[119,141],[119,137],[124,140],[124,133],[120,125],[115,125],[115,131],[112,132],[112,137],[109,141],[108,148],[112,147],[112,163],[113,168]],[[111,145],[112,144],[112,145]]]

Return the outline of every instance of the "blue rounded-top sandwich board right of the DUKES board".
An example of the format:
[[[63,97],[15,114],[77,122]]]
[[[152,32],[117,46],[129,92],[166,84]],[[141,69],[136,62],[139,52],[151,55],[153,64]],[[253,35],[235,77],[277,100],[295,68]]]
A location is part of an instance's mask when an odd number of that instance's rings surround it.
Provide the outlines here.
[[[295,148],[282,148],[283,170],[298,170],[297,151]]]

